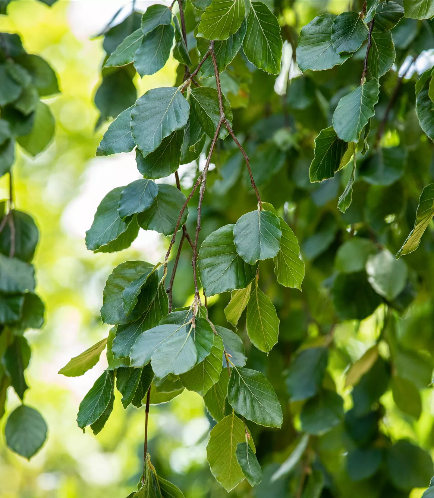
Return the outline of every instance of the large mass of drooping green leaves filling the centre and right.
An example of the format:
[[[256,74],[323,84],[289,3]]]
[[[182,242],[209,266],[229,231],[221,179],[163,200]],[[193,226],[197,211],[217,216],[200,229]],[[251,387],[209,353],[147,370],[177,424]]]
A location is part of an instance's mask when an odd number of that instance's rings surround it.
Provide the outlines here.
[[[393,252],[415,215],[402,253],[417,247],[433,217],[430,187],[418,210],[413,202],[432,175],[431,69],[418,81],[404,76],[432,48],[433,21],[427,19],[434,4],[360,3],[360,11],[315,17],[301,28],[296,50],[298,33],[284,20],[281,28],[260,1],[251,2],[247,17],[243,0],[180,1],[176,14],[152,5],[143,17],[133,12],[106,29],[95,103],[98,124],[116,119],[97,154],[136,147],[144,178],[106,195],[87,232],[87,248],[125,249],[139,227],[172,238],[157,265],[126,261],[113,270],[101,318],[114,327],[61,371],[81,375],[107,348],[108,368],[80,405],[83,429],[102,429],[115,383],[124,407],[146,404],[147,413],[151,404],[187,388],[203,396],[213,419],[207,457],[227,491],[245,479],[268,496],[282,497],[288,490],[294,496],[348,496],[360,486],[364,497],[404,497],[428,485],[434,473],[430,456],[414,443],[393,440],[380,398],[391,389],[401,415],[418,419],[419,390],[430,384],[433,370],[432,356],[416,351],[433,353],[430,339],[415,346],[400,330],[400,317],[416,294],[432,291],[426,264],[396,260]],[[279,19],[283,8],[275,5]],[[289,57],[281,68],[282,36]],[[177,86],[150,90],[136,101],[135,70],[155,73],[172,47],[179,61]],[[391,70],[403,63],[403,74]],[[280,72],[282,99],[272,90],[275,77],[265,72]],[[204,168],[185,195],[178,167],[202,150]],[[211,160],[217,174],[208,171]],[[172,173],[177,188],[153,181]],[[207,179],[212,195],[205,192]],[[187,216],[189,202],[197,206],[195,220],[191,210]],[[199,244],[202,226],[206,237]],[[178,251],[169,260],[178,230]],[[425,237],[423,260],[432,248]],[[191,269],[183,265],[191,258],[185,240],[192,248],[192,282]],[[179,288],[191,289],[194,300],[172,310],[177,268],[191,282]],[[208,297],[220,295],[209,309],[200,301],[200,286]],[[341,325],[372,314],[378,333],[354,361],[348,344],[335,335]],[[225,319],[245,331],[244,341],[220,325]],[[346,377],[340,393],[333,370]],[[284,434],[272,429],[282,425]],[[149,458],[145,451],[133,495],[182,496],[166,488]],[[259,462],[272,461],[281,465],[267,465],[262,476]]]

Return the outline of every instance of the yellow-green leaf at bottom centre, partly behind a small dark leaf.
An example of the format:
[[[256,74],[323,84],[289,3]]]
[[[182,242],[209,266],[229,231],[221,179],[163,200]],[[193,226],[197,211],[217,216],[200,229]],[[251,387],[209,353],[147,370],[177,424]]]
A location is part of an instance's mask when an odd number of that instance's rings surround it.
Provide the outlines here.
[[[228,492],[244,480],[235,453],[237,444],[245,440],[244,424],[234,412],[218,422],[210,433],[206,454],[211,473]]]

